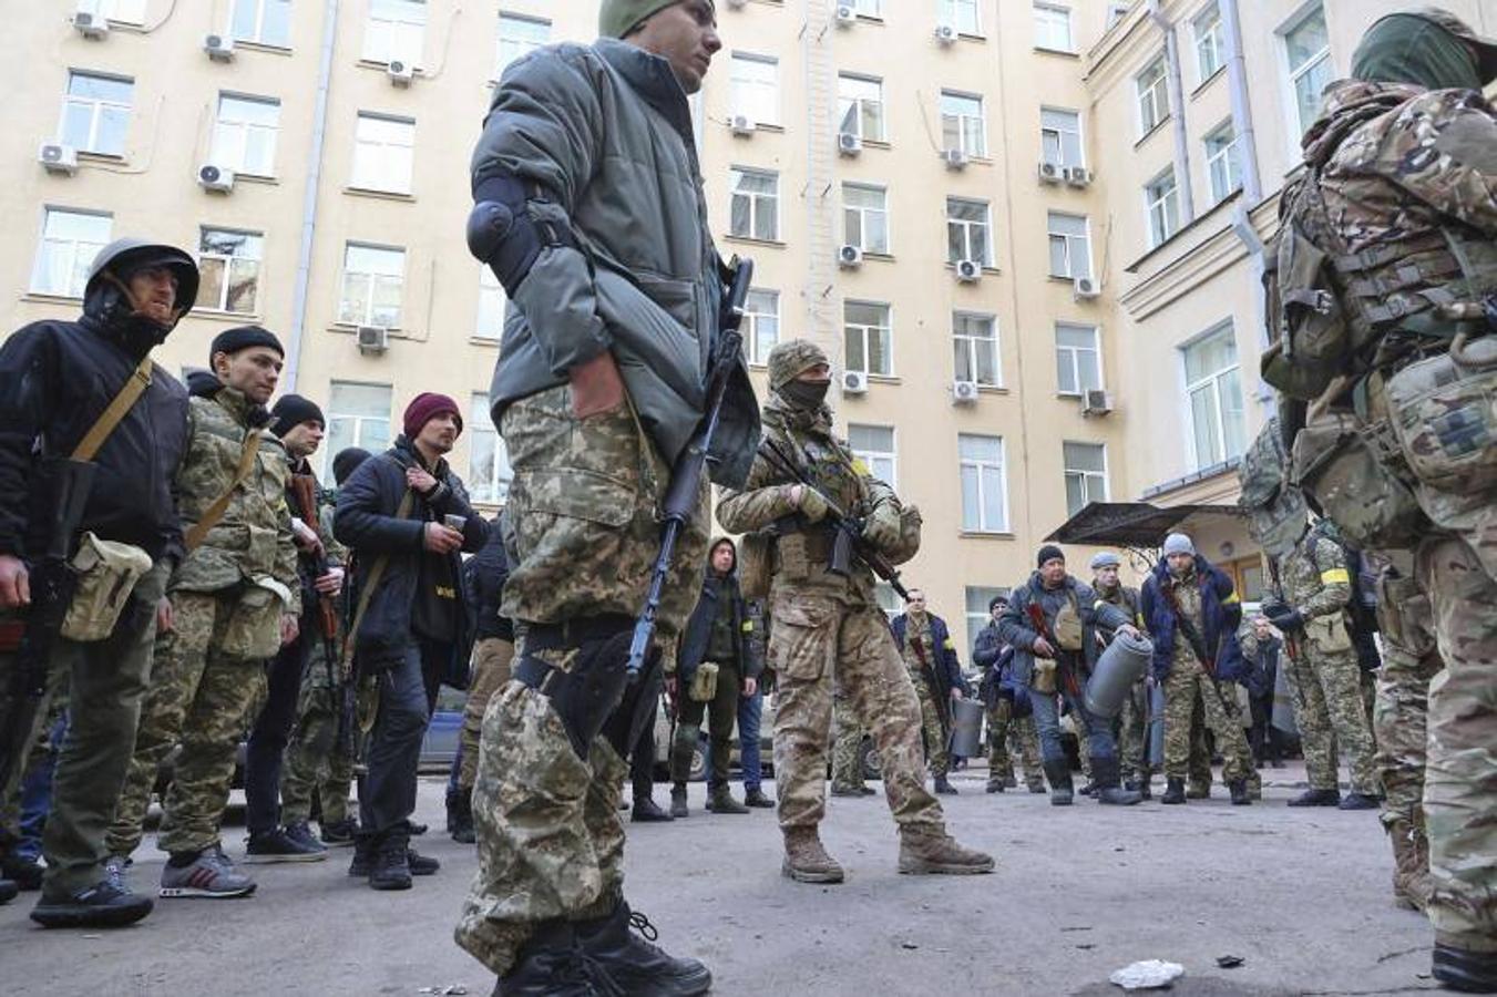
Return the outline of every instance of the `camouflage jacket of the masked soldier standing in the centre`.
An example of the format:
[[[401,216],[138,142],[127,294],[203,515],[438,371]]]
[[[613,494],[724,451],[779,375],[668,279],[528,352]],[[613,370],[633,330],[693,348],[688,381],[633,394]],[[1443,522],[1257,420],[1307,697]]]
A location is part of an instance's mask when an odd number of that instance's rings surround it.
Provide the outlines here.
[[[816,485],[850,516],[867,516],[885,501],[898,501],[894,490],[868,473],[847,445],[832,436],[831,412],[790,409],[777,395],[763,404],[763,443],[743,491],[725,488],[717,521],[729,533],[753,533],[795,513],[790,490],[795,481],[765,454],[772,443],[792,458]],[[831,530],[822,524],[801,525],[774,543],[771,597],[783,591],[829,596],[846,605],[873,603],[873,572],[855,561],[846,575],[826,570]]]

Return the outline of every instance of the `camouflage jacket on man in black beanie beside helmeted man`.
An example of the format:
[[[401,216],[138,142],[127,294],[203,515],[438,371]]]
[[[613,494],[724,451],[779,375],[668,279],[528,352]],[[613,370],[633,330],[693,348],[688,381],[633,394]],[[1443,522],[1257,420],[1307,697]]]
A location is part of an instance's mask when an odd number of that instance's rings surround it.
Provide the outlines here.
[[[234,481],[251,428],[251,412],[249,400],[232,388],[222,388],[211,397],[193,392],[187,409],[187,454],[177,470],[183,531],[190,530]],[[262,433],[254,467],[234,490],[223,518],[177,567],[172,590],[219,591],[269,576],[290,593],[286,612],[301,612],[296,545],[286,507],[289,478],[286,449],[272,434]]]

